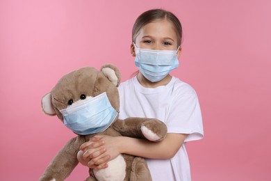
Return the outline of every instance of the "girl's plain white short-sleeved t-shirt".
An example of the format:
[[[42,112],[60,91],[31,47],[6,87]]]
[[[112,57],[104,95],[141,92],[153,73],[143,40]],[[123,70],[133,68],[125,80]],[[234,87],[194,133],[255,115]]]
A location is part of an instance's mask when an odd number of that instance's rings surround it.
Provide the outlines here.
[[[168,133],[189,134],[171,159],[146,159],[154,181],[188,181],[190,164],[186,142],[203,137],[202,113],[194,89],[172,77],[166,86],[144,88],[136,77],[120,84],[120,119],[157,118]]]

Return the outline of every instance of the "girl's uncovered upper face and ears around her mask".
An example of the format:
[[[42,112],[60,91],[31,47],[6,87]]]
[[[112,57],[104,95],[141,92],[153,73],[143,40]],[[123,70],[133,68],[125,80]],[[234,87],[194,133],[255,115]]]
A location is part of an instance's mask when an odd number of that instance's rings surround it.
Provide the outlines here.
[[[176,50],[178,48],[174,26],[172,22],[166,19],[158,19],[143,26],[136,37],[135,43],[137,47],[142,49]],[[134,52],[135,49],[131,45],[131,53],[136,56]],[[180,52],[179,49],[177,56],[179,56]]]

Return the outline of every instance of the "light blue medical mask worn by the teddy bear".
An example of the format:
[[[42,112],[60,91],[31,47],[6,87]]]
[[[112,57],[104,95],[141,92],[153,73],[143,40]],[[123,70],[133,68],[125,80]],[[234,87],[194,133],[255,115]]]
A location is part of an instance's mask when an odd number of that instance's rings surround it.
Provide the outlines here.
[[[76,134],[104,132],[117,116],[106,92],[60,110],[66,127]]]

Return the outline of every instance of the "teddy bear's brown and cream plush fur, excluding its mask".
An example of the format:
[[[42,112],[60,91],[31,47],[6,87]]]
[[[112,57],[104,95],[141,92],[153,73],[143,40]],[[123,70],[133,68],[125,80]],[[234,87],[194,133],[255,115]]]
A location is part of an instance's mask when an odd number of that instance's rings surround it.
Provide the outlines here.
[[[120,72],[114,65],[104,65],[101,70],[81,68],[62,77],[50,93],[42,97],[42,110],[49,116],[58,116],[63,122],[59,110],[69,106],[68,101],[82,102],[80,95],[95,97],[106,92],[110,104],[119,112],[120,97],[117,86],[120,84]],[[118,116],[117,116],[118,117]],[[131,136],[149,141],[161,141],[167,133],[163,122],[154,118],[115,118],[112,125],[104,132],[110,136]],[[65,180],[79,161],[77,153],[80,146],[95,134],[78,135],[67,142],[51,161],[40,180]],[[108,168],[99,171],[90,169],[87,180],[151,180],[145,159],[122,154],[108,162]]]

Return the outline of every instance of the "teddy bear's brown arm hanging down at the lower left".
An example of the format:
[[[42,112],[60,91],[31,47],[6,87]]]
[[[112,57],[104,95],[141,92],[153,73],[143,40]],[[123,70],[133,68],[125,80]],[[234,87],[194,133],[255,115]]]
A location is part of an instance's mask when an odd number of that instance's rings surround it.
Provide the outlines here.
[[[65,180],[72,173],[74,167],[79,163],[77,152],[80,145],[85,142],[81,136],[71,139],[54,157],[46,171],[40,177],[40,181],[45,180]]]

